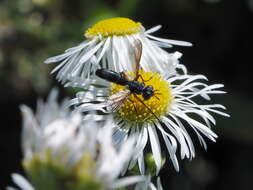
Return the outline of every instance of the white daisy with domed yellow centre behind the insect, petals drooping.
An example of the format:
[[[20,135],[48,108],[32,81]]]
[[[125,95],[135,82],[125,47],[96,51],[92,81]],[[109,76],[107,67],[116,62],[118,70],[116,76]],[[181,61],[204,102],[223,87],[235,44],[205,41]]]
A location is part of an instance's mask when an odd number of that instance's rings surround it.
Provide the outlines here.
[[[181,53],[167,53],[162,48],[191,46],[191,43],[153,36],[152,33],[160,28],[159,25],[145,30],[140,22],[121,17],[102,20],[85,31],[84,42],[45,60],[45,63],[60,62],[52,73],[58,71],[56,78],[62,83],[80,79],[88,83],[97,68],[132,71],[132,43],[139,39],[143,44],[141,67],[144,70],[152,68],[162,73],[169,68],[170,73],[176,73],[175,69],[181,68],[185,71],[185,67],[178,63]]]

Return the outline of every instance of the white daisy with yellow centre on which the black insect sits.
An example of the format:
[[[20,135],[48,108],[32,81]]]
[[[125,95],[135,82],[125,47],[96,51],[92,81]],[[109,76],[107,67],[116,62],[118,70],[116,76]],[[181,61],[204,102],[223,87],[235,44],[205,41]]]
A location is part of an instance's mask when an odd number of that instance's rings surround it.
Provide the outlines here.
[[[133,72],[125,73],[133,76]],[[200,143],[206,149],[203,136],[215,142],[217,135],[211,130],[215,119],[211,113],[229,116],[222,110],[220,104],[197,104],[195,98],[210,100],[211,94],[222,94],[222,84],[207,85],[203,75],[182,75],[164,78],[152,71],[139,71],[138,82],[154,89],[154,95],[149,99],[140,94],[129,93],[129,86],[122,86],[104,80],[104,83],[89,86],[84,92],[79,92],[76,98],[69,102],[75,105],[76,112],[99,110],[113,115],[117,126],[114,127],[116,143],[137,134],[137,147],[140,152],[130,163],[130,168],[138,162],[140,172],[145,173],[143,151],[150,142],[156,164],[156,173],[162,166],[160,142],[157,131],[166,144],[170,159],[179,171],[176,150],[180,146],[181,159],[192,159],[195,150],[188,128],[197,135]]]

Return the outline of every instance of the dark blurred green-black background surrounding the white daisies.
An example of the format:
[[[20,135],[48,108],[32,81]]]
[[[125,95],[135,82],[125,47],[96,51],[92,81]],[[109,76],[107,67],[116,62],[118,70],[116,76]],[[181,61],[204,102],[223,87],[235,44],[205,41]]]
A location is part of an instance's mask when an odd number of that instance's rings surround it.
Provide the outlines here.
[[[0,0],[0,189],[10,174],[22,173],[19,105],[33,108],[52,86],[71,94],[51,76],[46,58],[81,42],[88,26],[112,16],[140,21],[155,35],[190,41],[181,51],[193,74],[223,83],[228,92],[212,101],[224,104],[231,118],[216,116],[217,143],[204,151],[196,143],[194,160],[170,162],[161,171],[164,189],[253,189],[252,0]]]

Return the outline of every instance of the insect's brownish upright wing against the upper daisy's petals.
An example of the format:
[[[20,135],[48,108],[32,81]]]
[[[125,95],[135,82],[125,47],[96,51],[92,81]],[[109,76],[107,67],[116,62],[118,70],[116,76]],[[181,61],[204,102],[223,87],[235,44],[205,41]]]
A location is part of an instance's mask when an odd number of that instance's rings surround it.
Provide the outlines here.
[[[134,41],[134,58],[135,58],[135,77],[134,80],[137,80],[139,78],[139,70],[140,70],[140,61],[141,61],[141,55],[142,55],[142,43],[140,40],[136,39]]]

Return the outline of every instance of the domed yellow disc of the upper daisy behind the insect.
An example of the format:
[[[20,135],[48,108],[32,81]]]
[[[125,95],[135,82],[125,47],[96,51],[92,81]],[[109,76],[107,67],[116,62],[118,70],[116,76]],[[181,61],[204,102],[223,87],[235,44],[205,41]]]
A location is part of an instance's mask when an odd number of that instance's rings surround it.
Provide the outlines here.
[[[141,30],[141,23],[134,22],[128,18],[110,18],[102,20],[97,24],[90,27],[85,32],[86,38],[93,38],[97,35],[102,35],[103,37],[109,36],[125,36],[136,34]]]

